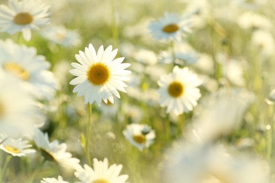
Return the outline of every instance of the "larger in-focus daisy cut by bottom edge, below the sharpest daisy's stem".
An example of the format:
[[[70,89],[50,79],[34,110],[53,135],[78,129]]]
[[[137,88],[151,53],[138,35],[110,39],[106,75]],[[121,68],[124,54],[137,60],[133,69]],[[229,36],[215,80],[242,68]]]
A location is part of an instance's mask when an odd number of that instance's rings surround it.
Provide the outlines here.
[[[93,159],[93,167],[84,165],[84,168],[77,169],[74,173],[80,180],[77,183],[126,183],[128,175],[119,175],[122,165],[113,164],[108,167],[108,160]]]

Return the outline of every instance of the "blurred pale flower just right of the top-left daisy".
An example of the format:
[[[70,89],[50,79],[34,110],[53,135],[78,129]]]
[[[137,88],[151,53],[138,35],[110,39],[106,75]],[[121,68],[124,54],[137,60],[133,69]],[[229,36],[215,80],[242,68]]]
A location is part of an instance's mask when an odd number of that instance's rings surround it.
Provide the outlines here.
[[[49,41],[65,47],[74,47],[81,43],[79,33],[66,29],[64,25],[45,28],[41,34]]]

